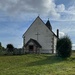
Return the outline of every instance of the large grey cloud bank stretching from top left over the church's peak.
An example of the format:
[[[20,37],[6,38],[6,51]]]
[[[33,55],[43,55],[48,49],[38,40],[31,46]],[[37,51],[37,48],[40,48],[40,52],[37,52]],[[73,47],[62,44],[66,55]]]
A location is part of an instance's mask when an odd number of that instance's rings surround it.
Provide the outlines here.
[[[8,15],[43,14],[59,18],[54,0],[0,0],[0,10]]]

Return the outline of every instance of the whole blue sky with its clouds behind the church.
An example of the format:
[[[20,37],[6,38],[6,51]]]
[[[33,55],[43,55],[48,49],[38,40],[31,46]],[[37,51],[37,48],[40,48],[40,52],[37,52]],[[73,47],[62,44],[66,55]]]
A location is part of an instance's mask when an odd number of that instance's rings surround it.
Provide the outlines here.
[[[0,42],[22,47],[22,35],[37,16],[49,18],[53,31],[68,35],[75,46],[75,0],[0,0]]]

